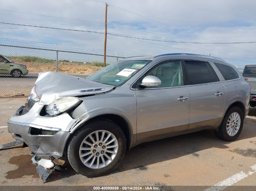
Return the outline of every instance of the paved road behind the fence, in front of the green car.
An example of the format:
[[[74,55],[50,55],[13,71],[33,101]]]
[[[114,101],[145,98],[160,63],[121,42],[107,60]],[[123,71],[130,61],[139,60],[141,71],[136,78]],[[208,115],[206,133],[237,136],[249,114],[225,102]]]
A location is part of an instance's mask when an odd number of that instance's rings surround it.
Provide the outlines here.
[[[75,75],[85,78],[88,75]],[[11,75],[0,75],[0,97],[14,95],[28,95],[35,84],[38,74],[28,74],[21,78],[12,78]]]

